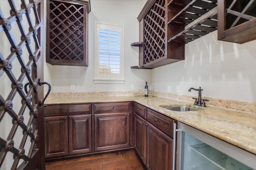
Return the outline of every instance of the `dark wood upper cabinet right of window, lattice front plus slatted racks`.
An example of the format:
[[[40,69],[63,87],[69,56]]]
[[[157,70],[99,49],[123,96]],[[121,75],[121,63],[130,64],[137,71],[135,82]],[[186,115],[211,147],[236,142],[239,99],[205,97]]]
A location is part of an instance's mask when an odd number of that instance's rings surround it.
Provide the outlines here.
[[[138,16],[139,66],[184,60],[185,44],[217,29],[217,0],[148,0]]]

